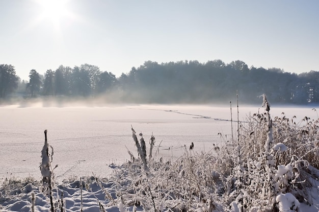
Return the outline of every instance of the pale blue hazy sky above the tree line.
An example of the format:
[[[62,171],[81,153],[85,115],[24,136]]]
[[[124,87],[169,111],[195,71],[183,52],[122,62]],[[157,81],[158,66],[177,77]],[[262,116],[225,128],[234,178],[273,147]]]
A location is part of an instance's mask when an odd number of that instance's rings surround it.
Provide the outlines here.
[[[21,79],[60,65],[119,77],[145,61],[221,59],[319,71],[319,1],[0,0],[0,64]]]

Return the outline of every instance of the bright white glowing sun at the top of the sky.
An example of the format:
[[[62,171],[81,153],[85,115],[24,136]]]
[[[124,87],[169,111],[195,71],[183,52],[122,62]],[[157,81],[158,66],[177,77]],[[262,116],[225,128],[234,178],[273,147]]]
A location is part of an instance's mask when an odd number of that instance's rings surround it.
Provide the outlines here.
[[[58,28],[64,19],[71,16],[67,8],[67,0],[37,0],[41,6],[40,20],[48,20]]]

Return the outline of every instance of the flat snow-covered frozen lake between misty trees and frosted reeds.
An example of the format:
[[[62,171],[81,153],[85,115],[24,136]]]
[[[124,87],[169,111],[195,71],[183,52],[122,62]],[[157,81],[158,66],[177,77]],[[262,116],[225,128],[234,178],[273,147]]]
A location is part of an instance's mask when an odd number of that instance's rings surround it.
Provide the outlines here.
[[[240,120],[251,112],[264,112],[260,106],[240,107]],[[272,107],[272,116],[304,116],[317,119],[312,107]],[[159,155],[177,158],[183,146],[194,143],[194,151],[209,151],[221,142],[218,133],[231,137],[230,108],[189,105],[126,105],[105,107],[0,107],[0,180],[5,177],[40,179],[39,164],[45,129],[54,148],[53,166],[58,181],[71,176],[108,176],[109,165],[130,159],[125,146],[137,157],[131,125],[141,131],[148,144],[153,133],[162,141]],[[237,108],[232,108],[237,120]],[[236,124],[233,123],[233,131]],[[139,137],[139,136],[138,136]],[[148,147],[148,146],[147,146]],[[154,155],[154,153],[153,153]]]

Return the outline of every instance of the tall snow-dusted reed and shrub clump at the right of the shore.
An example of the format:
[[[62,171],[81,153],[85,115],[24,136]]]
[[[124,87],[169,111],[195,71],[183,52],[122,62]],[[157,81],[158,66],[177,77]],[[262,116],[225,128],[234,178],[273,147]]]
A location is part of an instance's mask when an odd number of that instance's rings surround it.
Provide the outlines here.
[[[276,197],[291,193],[311,204],[311,166],[318,163],[318,122],[303,119],[297,125],[286,117],[271,118],[270,104],[263,95],[264,112],[249,114],[238,127],[238,139],[221,147],[216,169],[223,183],[228,208],[241,211],[273,210]],[[240,153],[240,154],[239,154]]]

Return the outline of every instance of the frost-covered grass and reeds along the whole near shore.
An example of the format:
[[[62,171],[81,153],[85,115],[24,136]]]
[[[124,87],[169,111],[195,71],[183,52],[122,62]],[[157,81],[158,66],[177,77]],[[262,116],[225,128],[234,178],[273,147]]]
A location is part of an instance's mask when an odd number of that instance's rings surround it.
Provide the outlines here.
[[[54,205],[57,211],[318,211],[319,123],[285,114],[272,118],[271,111],[249,114],[238,136],[220,133],[221,143],[210,150],[197,151],[196,143],[182,147],[178,158],[163,158],[156,147],[148,157],[144,145],[149,150],[161,138],[132,129],[131,161],[111,164],[108,178],[56,183]],[[38,180],[6,178],[0,210],[31,211],[34,194],[35,211],[48,211],[49,195]]]

